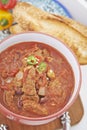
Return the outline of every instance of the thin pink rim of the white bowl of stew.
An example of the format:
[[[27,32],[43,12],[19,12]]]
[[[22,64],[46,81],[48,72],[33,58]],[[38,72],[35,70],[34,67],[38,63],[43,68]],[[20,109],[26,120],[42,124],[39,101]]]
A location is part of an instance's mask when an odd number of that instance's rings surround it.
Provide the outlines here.
[[[80,88],[81,88],[81,82],[82,82],[82,74],[81,74],[81,68],[80,68],[80,64],[76,58],[76,55],[73,53],[73,51],[68,47],[68,45],[64,44],[64,42],[62,40],[60,40],[59,38],[56,38],[50,34],[46,34],[46,33],[42,33],[42,32],[37,32],[37,31],[28,31],[28,32],[24,32],[24,33],[18,33],[18,34],[13,34],[13,35],[10,35],[8,36],[7,38],[3,39],[2,41],[0,41],[0,45],[3,44],[3,42],[7,41],[8,39],[12,38],[12,37],[16,37],[18,35],[21,35],[21,34],[42,34],[44,36],[47,36],[47,37],[51,37],[51,38],[54,38],[56,39],[57,41],[61,42],[65,48],[67,48],[73,55],[73,57],[75,58],[75,61],[77,63],[77,66],[78,66],[78,69],[79,69],[79,85],[78,85],[78,88],[77,88],[77,92],[75,94],[75,96],[73,97],[73,100],[71,103],[69,103],[68,105],[66,104],[60,111],[58,112],[55,112],[51,115],[48,115],[48,116],[42,116],[42,117],[27,117],[27,116],[22,116],[22,115],[19,115],[19,114],[16,114],[10,110],[8,110],[6,107],[4,107],[1,103],[0,103],[0,110],[1,112],[5,115],[5,116],[13,116],[14,118],[17,118],[16,120],[20,120],[20,119],[23,119],[23,120],[28,120],[28,121],[41,121],[41,120],[48,120],[48,119],[51,119],[51,118],[55,118],[55,117],[60,117],[63,113],[65,113],[69,108],[70,106],[74,103],[74,101],[76,100],[76,98],[78,97],[79,95],[79,91],[80,91]]]

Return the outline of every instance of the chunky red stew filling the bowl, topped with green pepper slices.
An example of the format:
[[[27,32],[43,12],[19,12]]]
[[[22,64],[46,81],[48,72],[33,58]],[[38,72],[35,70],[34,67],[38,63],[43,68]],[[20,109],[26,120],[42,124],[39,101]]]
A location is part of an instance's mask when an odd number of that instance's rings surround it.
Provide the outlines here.
[[[0,102],[14,113],[53,114],[68,102],[74,83],[66,58],[48,45],[23,42],[0,53]]]

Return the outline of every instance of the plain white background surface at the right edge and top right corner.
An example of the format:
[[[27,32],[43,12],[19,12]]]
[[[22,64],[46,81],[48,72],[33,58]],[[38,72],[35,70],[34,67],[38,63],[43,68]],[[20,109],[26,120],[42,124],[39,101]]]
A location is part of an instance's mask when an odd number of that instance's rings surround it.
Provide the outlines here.
[[[87,25],[87,2],[86,0],[58,0],[69,10],[73,18]],[[70,130],[87,130],[87,65],[81,66],[82,85],[80,97],[82,100],[84,115],[82,120],[71,127]],[[79,109],[79,108],[78,108]]]

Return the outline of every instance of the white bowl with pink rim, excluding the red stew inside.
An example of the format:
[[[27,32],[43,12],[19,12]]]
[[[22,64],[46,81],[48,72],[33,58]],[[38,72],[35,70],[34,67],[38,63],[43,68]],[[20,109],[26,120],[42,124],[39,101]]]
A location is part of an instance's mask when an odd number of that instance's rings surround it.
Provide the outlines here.
[[[74,92],[68,101],[68,103],[65,105],[63,109],[60,111],[46,116],[46,117],[40,117],[40,118],[30,118],[30,117],[24,117],[18,114],[15,114],[9,110],[7,110],[4,106],[0,104],[0,111],[9,119],[12,119],[14,121],[23,123],[23,124],[28,124],[28,125],[40,125],[40,124],[46,124],[50,121],[53,121],[54,119],[60,117],[64,112],[69,109],[69,107],[74,103],[76,97],[79,94],[80,86],[81,86],[81,70],[79,63],[73,54],[73,52],[61,41],[58,39],[46,35],[43,33],[37,33],[37,32],[27,32],[27,33],[22,33],[22,34],[17,34],[13,35],[4,41],[1,42],[0,44],[0,52],[5,50],[6,48],[20,42],[27,42],[27,41],[35,41],[35,42],[41,42],[44,44],[48,44],[54,48],[56,48],[59,52],[61,52],[65,58],[68,60],[69,64],[71,65],[73,72],[74,72],[74,77],[75,77],[75,86],[74,86]]]

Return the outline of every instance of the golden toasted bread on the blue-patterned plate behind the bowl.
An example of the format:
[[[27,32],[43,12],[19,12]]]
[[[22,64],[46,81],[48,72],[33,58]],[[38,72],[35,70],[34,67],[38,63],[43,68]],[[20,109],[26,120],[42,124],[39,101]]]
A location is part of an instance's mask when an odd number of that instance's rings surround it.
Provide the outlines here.
[[[83,26],[77,26],[75,22],[73,24],[63,17],[57,17],[25,2],[18,2],[13,16],[18,25],[10,29],[11,33],[19,32],[15,28],[20,28],[20,32],[31,30],[55,36],[73,50],[80,64],[87,64],[87,36],[84,35],[87,30]]]

